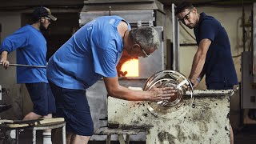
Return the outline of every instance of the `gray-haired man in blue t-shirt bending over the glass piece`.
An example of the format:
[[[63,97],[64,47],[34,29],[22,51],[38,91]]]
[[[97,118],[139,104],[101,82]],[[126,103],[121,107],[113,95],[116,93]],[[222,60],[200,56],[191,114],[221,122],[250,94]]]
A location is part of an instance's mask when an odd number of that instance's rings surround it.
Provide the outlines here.
[[[130,90],[118,83],[116,66],[122,51],[134,57],[148,57],[159,46],[158,32],[152,27],[130,29],[118,16],[96,18],[82,26],[50,58],[47,78],[56,99],[57,117],[66,120],[67,140],[87,143],[94,133],[86,89],[103,78],[108,94],[130,101],[170,99],[170,87],[152,91]],[[67,142],[69,143],[69,142]]]

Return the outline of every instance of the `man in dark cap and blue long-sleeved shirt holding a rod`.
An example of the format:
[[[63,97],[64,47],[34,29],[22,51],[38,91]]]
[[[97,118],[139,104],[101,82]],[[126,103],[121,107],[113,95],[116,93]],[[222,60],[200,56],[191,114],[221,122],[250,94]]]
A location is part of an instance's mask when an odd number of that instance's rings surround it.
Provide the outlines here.
[[[17,63],[30,66],[46,66],[46,38],[41,30],[47,30],[50,20],[56,21],[50,10],[38,7],[32,14],[32,24],[23,26],[4,39],[0,46],[2,66],[9,66],[7,54],[16,50]],[[34,104],[33,111],[24,120],[52,118],[55,113],[54,97],[46,78],[46,68],[17,67],[17,83],[25,83]],[[43,133],[44,144],[50,144],[50,130]]]

